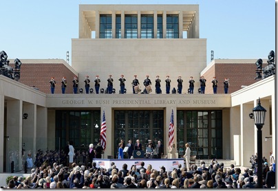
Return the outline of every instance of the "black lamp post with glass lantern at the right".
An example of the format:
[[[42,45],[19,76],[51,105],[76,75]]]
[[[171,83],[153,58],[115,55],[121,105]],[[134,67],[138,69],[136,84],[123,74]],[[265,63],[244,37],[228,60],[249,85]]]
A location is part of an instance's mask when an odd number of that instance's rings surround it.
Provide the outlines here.
[[[257,180],[258,188],[263,188],[263,152],[262,152],[262,135],[261,128],[264,126],[264,120],[266,118],[266,109],[261,106],[261,100],[259,99],[258,105],[253,109],[254,123],[257,126]]]

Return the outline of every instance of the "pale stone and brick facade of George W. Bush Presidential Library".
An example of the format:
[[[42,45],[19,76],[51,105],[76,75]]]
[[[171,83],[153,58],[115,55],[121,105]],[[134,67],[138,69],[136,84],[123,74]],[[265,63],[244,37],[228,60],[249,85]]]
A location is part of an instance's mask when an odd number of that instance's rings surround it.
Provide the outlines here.
[[[179,157],[189,142],[191,155],[197,159],[231,159],[235,165],[250,166],[257,134],[248,114],[258,98],[268,111],[263,137],[272,137],[263,142],[263,154],[267,157],[273,150],[275,155],[275,76],[256,82],[252,64],[256,60],[213,60],[206,66],[198,5],[80,5],[79,12],[79,38],[72,39],[72,67],[64,60],[21,60],[20,82],[0,76],[0,172],[9,172],[11,161],[16,171],[21,170],[23,150],[34,156],[39,149],[61,150],[69,140],[76,150],[87,150],[89,144],[99,142],[103,113],[107,125],[103,157],[116,157],[120,139],[125,143],[140,139],[144,148],[149,139],[155,144],[160,140],[166,154],[172,111]],[[52,71],[47,70],[50,68]],[[34,71],[43,74],[28,74]],[[109,74],[114,78],[115,93],[72,93],[73,76],[78,76],[78,88],[84,89],[85,76],[94,88],[98,75],[100,88],[106,89]],[[124,94],[118,93],[121,74],[127,80]],[[133,93],[134,75],[141,89],[148,75],[153,92]],[[158,75],[161,94],[154,91]],[[181,94],[165,93],[167,75],[171,89],[177,88],[178,76],[182,76]],[[68,81],[65,94],[60,88],[63,76]],[[190,76],[195,79],[193,94],[188,93]],[[207,80],[204,94],[197,91],[200,76]],[[219,80],[217,94],[212,91],[214,76]],[[51,77],[58,79],[54,94],[50,94]],[[231,82],[227,94],[222,87],[224,78]],[[23,119],[24,113],[28,118]]]

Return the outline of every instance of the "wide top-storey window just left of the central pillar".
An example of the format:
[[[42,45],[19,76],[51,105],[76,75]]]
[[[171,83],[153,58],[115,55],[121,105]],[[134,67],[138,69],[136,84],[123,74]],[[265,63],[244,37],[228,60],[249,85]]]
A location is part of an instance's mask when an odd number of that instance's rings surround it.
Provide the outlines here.
[[[125,38],[137,38],[137,14],[125,14]]]

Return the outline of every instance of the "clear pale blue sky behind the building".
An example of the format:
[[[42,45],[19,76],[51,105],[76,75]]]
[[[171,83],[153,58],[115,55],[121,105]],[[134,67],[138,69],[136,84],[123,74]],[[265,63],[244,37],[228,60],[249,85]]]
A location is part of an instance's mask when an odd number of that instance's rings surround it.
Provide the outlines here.
[[[8,59],[66,60],[78,38],[80,4],[197,4],[207,65],[215,59],[267,59],[275,51],[274,0],[8,0],[1,2],[0,51]],[[275,51],[276,54],[276,51]]]

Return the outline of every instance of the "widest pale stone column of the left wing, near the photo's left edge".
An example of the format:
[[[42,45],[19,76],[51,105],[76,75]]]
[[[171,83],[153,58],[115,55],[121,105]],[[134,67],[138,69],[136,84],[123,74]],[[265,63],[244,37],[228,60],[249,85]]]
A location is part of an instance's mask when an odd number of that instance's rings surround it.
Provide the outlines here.
[[[22,100],[7,100],[7,136],[9,136],[7,169],[10,169],[10,164],[14,161],[14,172],[23,169],[22,111]]]

